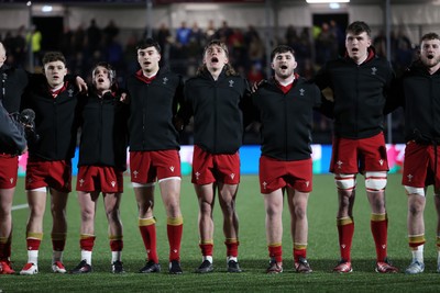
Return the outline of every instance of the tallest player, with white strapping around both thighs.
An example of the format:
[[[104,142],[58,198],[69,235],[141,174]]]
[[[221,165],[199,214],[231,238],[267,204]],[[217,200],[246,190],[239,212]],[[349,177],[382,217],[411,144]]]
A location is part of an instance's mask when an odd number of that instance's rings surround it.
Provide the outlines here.
[[[355,21],[346,27],[345,56],[327,61],[315,82],[330,89],[332,101],[323,108],[334,117],[334,139],[330,171],[338,189],[340,261],[333,271],[350,273],[354,235],[353,205],[356,174],[365,177],[371,207],[371,230],[376,247],[376,272],[394,273],[398,269],[387,258],[388,216],[385,205],[388,161],[383,133],[384,106],[389,97],[394,72],[389,63],[376,56],[371,29]]]

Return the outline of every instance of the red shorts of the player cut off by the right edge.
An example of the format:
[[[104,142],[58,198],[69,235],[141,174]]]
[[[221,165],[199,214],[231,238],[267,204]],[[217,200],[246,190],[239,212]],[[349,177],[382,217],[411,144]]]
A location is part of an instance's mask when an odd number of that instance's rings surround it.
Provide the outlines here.
[[[404,173],[402,184],[425,188],[435,184],[440,188],[440,147],[437,147],[437,173],[435,174],[436,154],[431,145],[409,142],[405,147]]]

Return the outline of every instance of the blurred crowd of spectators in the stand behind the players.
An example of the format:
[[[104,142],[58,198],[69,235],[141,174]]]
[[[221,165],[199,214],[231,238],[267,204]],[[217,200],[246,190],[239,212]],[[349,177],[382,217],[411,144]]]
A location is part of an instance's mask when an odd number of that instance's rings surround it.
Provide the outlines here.
[[[213,21],[210,21],[205,29],[201,29],[197,22],[188,24],[184,21],[176,30],[169,29],[164,23],[160,24],[153,30],[153,37],[163,48],[162,66],[169,66],[186,78],[195,75],[197,67],[200,66],[205,45],[212,38],[219,38],[228,45],[231,63],[235,69],[253,83],[267,78],[263,33],[263,30],[253,25],[249,25],[244,30],[231,27],[227,21],[223,21],[218,27]],[[96,20],[91,19],[87,26],[79,25],[76,30],[65,27],[56,49],[62,50],[66,56],[70,72],[89,79],[87,74],[90,72],[91,67],[98,61],[106,60],[113,65],[119,82],[123,84],[124,77],[138,70],[135,46],[140,38],[146,36],[146,32],[133,32],[129,36],[121,37],[121,30],[113,20],[109,21],[106,26],[99,27]],[[8,32],[0,36],[0,40],[7,48],[8,63],[25,68],[29,64],[26,44],[30,40],[25,27],[19,27],[15,34]],[[121,40],[124,40],[124,43]],[[373,40],[378,55],[386,55],[385,41],[383,32],[380,32]],[[306,78],[312,78],[326,60],[344,54],[344,31],[333,20],[315,27],[289,25],[284,30],[280,40],[274,42],[290,45],[295,49],[298,61],[297,72]],[[44,49],[53,48],[42,48],[42,50]],[[37,65],[38,55],[35,56],[35,65]],[[402,72],[414,57],[415,48],[403,30],[393,33],[391,61],[396,72]],[[396,133],[393,143],[399,143],[402,126],[400,114],[397,113],[393,117],[393,132]],[[255,128],[250,127],[245,137],[246,143],[257,143]],[[314,129],[315,143],[331,143],[330,121],[317,114]],[[187,143],[190,143],[190,139]]]

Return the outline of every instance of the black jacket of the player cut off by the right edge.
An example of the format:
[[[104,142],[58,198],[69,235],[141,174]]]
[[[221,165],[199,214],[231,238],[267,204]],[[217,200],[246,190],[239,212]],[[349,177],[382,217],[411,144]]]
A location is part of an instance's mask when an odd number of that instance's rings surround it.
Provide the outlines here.
[[[415,63],[396,82],[396,99],[405,108],[405,139],[440,143],[440,70],[430,75]]]

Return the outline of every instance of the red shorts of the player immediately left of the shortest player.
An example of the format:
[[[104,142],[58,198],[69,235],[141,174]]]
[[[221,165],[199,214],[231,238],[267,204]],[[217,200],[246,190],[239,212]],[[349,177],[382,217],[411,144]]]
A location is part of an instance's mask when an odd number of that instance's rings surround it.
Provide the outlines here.
[[[72,164],[66,160],[40,161],[28,159],[26,190],[53,188],[59,192],[72,191]]]

